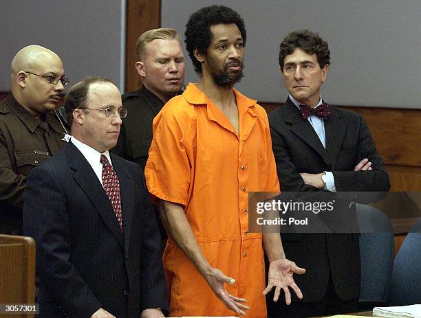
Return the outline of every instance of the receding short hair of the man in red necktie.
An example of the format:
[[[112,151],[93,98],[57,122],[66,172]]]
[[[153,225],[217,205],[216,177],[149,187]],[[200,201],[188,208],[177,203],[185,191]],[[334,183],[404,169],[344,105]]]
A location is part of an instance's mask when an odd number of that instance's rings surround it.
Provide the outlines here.
[[[64,109],[66,111],[66,117],[69,126],[72,126],[73,111],[75,109],[85,106],[89,86],[98,82],[109,82],[112,84],[109,78],[105,78],[102,76],[89,76],[87,78],[84,78],[82,81],[74,84],[65,95]]]

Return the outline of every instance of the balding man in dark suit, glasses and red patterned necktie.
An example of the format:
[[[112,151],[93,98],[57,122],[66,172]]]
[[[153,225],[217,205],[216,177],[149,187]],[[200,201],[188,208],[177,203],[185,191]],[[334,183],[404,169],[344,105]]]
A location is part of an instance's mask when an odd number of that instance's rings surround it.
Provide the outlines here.
[[[40,317],[164,317],[160,237],[142,169],[108,151],[127,115],[120,91],[85,78],[65,109],[72,139],[31,172],[25,190]]]

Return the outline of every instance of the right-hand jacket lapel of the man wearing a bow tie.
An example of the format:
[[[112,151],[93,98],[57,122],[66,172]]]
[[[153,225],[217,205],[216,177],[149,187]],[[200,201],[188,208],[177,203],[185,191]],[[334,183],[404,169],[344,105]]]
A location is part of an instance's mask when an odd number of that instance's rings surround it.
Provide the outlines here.
[[[335,168],[339,150],[343,144],[343,138],[347,127],[341,122],[341,115],[330,107],[330,117],[325,120],[326,151],[332,162],[332,169]]]

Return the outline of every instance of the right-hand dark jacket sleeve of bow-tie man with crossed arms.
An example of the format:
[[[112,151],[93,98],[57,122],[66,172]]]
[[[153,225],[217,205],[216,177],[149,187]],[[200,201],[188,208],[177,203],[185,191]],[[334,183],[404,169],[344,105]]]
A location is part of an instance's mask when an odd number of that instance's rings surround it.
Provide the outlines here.
[[[371,161],[372,170],[367,171],[332,171],[338,192],[387,192],[390,188],[389,176],[382,158],[376,150],[373,139],[363,117],[358,115],[360,129],[358,135],[358,155],[356,166],[362,159]]]

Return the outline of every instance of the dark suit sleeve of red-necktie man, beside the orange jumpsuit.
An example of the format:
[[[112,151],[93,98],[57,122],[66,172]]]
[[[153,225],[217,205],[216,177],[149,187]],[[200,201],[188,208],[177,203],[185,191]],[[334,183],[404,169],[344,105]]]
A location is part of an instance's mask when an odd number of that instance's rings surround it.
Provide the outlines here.
[[[139,173],[144,193],[142,258],[140,259],[140,312],[146,308],[157,307],[168,310],[164,269],[162,268],[160,230],[149,200],[142,170]]]

